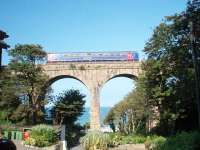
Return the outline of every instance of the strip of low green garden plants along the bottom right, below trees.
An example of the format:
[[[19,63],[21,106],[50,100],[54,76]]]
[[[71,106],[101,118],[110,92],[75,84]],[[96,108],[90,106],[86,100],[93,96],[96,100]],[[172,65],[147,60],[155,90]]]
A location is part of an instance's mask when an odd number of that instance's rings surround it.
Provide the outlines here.
[[[84,150],[108,150],[123,145],[144,144],[146,150],[199,150],[199,132],[182,132],[174,136],[122,135],[91,131],[81,138]]]

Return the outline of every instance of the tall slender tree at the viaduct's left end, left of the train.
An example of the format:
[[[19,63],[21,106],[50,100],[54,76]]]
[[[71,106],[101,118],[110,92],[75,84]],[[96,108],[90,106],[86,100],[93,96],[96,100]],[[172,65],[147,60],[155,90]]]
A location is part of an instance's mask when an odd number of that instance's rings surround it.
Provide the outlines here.
[[[45,101],[41,99],[40,93],[48,77],[43,73],[40,63],[44,61],[46,52],[40,45],[19,44],[9,54],[12,56],[9,69],[14,73],[16,90],[23,104],[20,110],[26,111],[27,123],[36,124],[43,119]]]

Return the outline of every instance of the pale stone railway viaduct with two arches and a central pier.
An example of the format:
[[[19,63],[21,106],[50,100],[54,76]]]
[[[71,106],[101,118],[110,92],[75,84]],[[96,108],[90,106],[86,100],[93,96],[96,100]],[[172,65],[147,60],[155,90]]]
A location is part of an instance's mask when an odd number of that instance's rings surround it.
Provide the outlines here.
[[[139,61],[55,62],[43,65],[49,76],[49,85],[62,78],[82,82],[91,93],[90,128],[100,128],[100,91],[103,85],[116,77],[137,78],[141,73]],[[119,85],[120,86],[120,85]],[[113,93],[114,94],[114,93]]]

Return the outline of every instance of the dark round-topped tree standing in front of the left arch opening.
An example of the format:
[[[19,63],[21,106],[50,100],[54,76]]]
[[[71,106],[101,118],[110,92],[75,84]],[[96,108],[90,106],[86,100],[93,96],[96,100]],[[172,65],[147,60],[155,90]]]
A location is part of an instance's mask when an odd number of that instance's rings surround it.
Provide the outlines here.
[[[67,146],[71,147],[77,144],[82,136],[81,127],[76,124],[78,117],[84,112],[85,95],[78,90],[69,90],[61,93],[53,108],[56,124],[66,126]]]

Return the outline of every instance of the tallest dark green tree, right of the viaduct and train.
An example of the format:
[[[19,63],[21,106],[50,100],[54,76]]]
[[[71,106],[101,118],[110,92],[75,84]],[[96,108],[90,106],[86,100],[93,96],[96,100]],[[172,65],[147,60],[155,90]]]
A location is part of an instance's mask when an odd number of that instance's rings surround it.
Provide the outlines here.
[[[197,128],[188,18],[192,13],[185,14],[166,17],[145,46],[148,58],[142,66],[145,70],[144,88],[148,104],[158,108],[159,127],[163,134]],[[193,19],[198,20],[199,10],[195,14]],[[196,39],[196,44],[199,54],[199,39]]]

